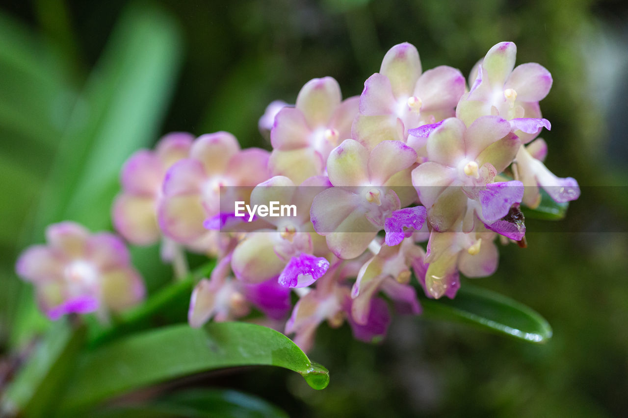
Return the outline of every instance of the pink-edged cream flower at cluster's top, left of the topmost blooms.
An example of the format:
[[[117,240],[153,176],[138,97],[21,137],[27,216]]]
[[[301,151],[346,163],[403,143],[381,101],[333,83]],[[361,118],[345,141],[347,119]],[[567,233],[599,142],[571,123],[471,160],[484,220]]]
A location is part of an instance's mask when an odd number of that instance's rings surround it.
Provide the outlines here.
[[[271,130],[273,175],[300,184],[325,172],[325,161],[334,147],[351,137],[358,98],[341,101],[340,86],[332,77],[307,82],[295,107],[284,107],[274,118]]]

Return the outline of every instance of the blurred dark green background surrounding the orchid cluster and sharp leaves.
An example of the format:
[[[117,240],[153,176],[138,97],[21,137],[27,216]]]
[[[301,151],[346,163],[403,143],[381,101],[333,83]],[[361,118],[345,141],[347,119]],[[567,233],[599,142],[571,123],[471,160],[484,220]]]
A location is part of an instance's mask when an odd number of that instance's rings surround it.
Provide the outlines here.
[[[539,62],[548,167],[583,186],[566,220],[528,222],[528,249],[501,249],[476,282],[543,314],[555,335],[527,345],[457,324],[398,317],[379,346],[320,329],[311,358],[331,371],[254,369],[176,386],[230,387],[291,416],[628,415],[628,4],[622,1],[4,1],[0,8],[0,353],[45,326],[13,274],[19,250],[65,218],[111,228],[117,173],[169,131],[226,130],[268,143],[274,99],[330,75],[360,94],[386,50],[417,46],[423,68],[465,75],[499,41]],[[154,291],[170,271],[135,250]],[[149,261],[146,261],[149,260]],[[464,282],[463,282],[464,285]],[[5,363],[2,363],[3,365]],[[154,395],[155,392],[149,392]],[[158,392],[157,392],[158,393]]]

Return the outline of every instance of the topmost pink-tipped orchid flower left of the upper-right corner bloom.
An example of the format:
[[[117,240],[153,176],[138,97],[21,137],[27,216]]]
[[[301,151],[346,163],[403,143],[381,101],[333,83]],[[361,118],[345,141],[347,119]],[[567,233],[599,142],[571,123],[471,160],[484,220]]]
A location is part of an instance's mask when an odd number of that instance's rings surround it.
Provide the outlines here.
[[[384,56],[379,73],[364,83],[352,137],[369,148],[389,139],[406,141],[409,129],[452,117],[464,92],[460,71],[441,65],[421,74],[416,48],[395,45]]]

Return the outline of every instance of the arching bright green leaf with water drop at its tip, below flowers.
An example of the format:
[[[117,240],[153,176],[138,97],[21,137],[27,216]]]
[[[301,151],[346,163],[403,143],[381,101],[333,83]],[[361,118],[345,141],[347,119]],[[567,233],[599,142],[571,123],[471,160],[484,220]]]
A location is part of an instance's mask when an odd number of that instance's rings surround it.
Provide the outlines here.
[[[217,368],[273,365],[300,373],[314,389],[329,382],[288,337],[249,323],[181,324],[146,331],[85,353],[63,399],[63,412],[173,378]]]

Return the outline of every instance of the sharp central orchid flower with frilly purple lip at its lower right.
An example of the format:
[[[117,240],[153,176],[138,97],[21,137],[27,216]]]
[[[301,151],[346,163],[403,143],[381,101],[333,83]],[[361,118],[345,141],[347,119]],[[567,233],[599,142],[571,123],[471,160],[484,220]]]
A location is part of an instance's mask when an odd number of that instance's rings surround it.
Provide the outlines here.
[[[415,161],[416,152],[400,141],[383,141],[369,151],[346,139],[332,151],[327,173],[334,187],[314,198],[310,217],[333,254],[357,257],[384,227],[396,235],[395,240],[403,227],[421,228],[425,212],[410,210],[406,216],[396,212],[416,201],[410,187]]]

